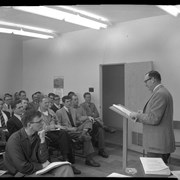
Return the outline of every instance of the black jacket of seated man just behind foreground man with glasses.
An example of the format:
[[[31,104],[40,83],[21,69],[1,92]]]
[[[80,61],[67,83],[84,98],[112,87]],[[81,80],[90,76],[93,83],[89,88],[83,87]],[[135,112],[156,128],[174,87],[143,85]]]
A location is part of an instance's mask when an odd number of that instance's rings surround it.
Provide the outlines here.
[[[22,127],[22,122],[14,115],[7,121],[9,136],[11,136],[14,132],[18,131]]]

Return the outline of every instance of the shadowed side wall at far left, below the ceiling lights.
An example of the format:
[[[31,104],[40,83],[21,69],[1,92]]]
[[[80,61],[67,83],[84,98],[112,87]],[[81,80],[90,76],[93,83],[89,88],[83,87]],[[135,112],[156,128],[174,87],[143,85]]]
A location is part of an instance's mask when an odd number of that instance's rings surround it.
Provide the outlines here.
[[[22,41],[0,34],[0,97],[22,89]]]

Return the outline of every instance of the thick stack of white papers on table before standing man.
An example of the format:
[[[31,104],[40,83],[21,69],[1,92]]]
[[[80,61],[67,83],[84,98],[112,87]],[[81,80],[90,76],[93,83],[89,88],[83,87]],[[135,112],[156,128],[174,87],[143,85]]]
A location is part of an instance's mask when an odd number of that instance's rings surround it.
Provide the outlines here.
[[[162,158],[140,157],[145,174],[170,175],[169,167]]]

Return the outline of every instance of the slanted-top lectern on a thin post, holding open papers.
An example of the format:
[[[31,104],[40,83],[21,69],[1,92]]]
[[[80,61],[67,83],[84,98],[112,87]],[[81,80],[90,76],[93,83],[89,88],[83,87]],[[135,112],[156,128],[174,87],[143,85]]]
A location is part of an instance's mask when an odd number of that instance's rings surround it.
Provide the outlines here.
[[[127,150],[128,150],[128,120],[131,120],[129,117],[130,110],[126,107],[118,104],[112,105],[109,107],[114,112],[123,116],[123,170],[127,167]]]

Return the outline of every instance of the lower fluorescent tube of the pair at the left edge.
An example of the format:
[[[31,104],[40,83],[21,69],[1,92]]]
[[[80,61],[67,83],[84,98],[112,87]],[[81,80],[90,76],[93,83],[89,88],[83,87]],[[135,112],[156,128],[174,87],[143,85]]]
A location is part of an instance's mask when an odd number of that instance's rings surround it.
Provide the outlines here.
[[[53,38],[53,36],[39,34],[39,33],[33,33],[33,32],[27,32],[27,31],[23,31],[22,29],[21,30],[15,30],[15,29],[9,29],[9,28],[0,28],[0,33],[29,36],[29,37],[35,37],[35,38],[41,38],[41,39]]]

